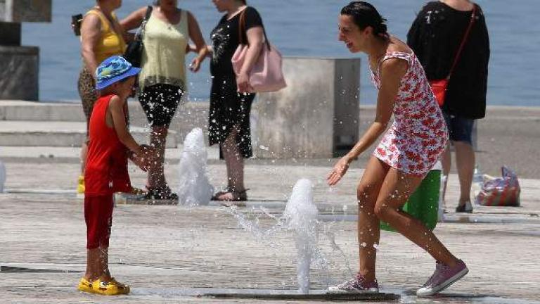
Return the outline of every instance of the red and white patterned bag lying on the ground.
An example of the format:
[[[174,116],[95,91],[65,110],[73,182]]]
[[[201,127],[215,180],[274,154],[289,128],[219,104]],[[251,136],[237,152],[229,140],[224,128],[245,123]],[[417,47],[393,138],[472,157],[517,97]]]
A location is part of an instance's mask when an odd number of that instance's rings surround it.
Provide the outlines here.
[[[484,175],[482,190],[476,196],[477,204],[519,207],[521,189],[518,176],[508,167],[502,167],[502,172],[502,177]]]

